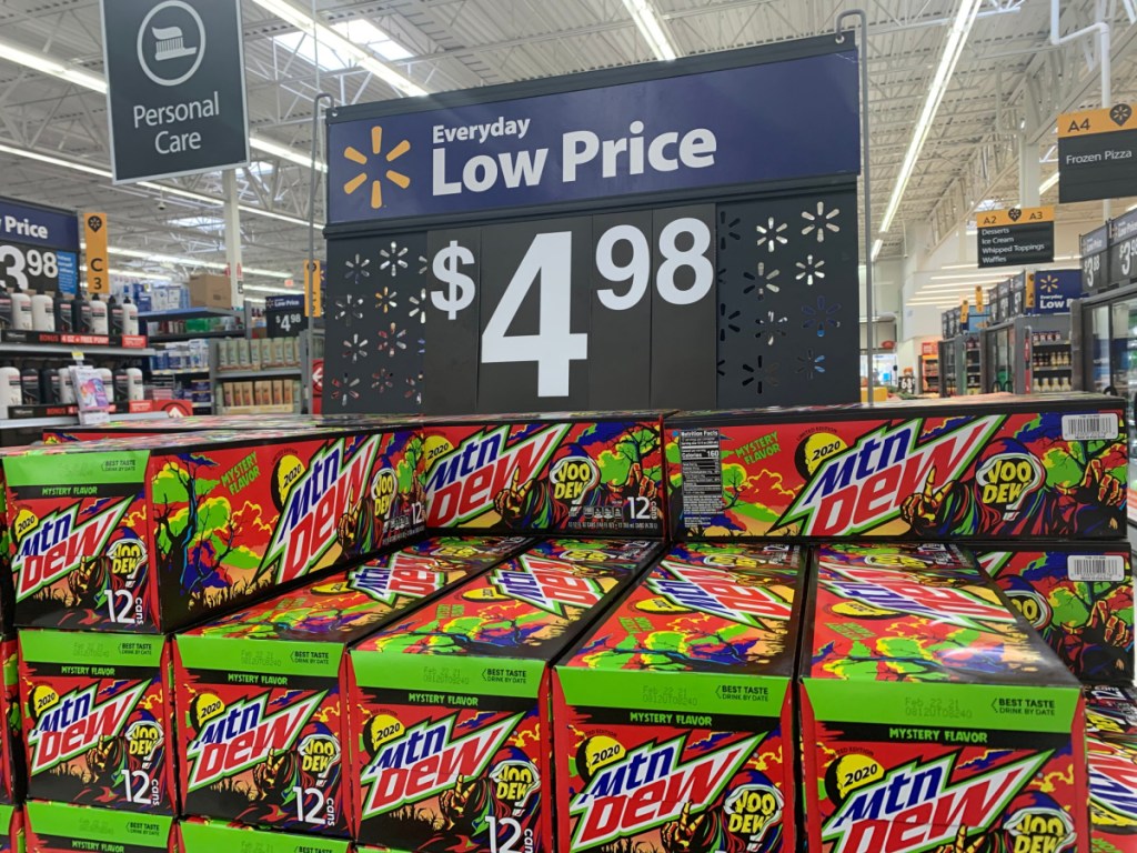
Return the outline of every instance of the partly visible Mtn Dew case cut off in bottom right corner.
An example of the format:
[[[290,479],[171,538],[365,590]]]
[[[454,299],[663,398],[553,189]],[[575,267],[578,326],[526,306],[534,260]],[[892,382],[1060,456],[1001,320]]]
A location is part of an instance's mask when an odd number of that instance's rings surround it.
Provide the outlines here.
[[[1089,815],[1094,853],[1137,850],[1137,691],[1086,688]]]

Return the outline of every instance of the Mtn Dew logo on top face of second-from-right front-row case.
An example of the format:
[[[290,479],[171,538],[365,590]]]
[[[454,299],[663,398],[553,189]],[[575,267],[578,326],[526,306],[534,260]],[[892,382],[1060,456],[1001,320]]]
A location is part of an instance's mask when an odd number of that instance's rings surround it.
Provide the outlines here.
[[[762,628],[765,627],[763,620],[790,618],[794,605],[761,586],[762,579],[756,577],[753,586],[741,581],[741,575],[721,569],[700,569],[664,560],[659,569],[648,575],[647,586],[680,607],[714,613],[741,624]]]

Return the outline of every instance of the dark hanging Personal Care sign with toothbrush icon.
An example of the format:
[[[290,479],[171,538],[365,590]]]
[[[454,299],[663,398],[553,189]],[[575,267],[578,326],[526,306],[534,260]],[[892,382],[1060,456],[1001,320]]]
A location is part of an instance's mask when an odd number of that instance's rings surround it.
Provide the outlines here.
[[[238,0],[102,0],[116,182],[249,160]]]

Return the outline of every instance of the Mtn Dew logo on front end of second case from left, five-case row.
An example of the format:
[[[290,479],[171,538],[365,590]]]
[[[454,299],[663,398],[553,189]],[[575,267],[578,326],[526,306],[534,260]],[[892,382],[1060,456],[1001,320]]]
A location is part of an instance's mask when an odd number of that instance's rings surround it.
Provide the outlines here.
[[[240,699],[208,720],[190,743],[186,792],[240,773],[269,755],[292,748],[326,690],[296,702],[282,711],[265,713],[267,694]]]

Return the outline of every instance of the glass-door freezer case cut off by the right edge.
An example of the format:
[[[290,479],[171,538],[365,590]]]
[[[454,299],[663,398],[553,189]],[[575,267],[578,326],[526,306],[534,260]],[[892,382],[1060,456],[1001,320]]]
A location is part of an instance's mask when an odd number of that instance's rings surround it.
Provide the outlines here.
[[[1137,284],[1084,299],[1073,345],[1081,350],[1082,388],[1126,399],[1129,523],[1137,525]]]

